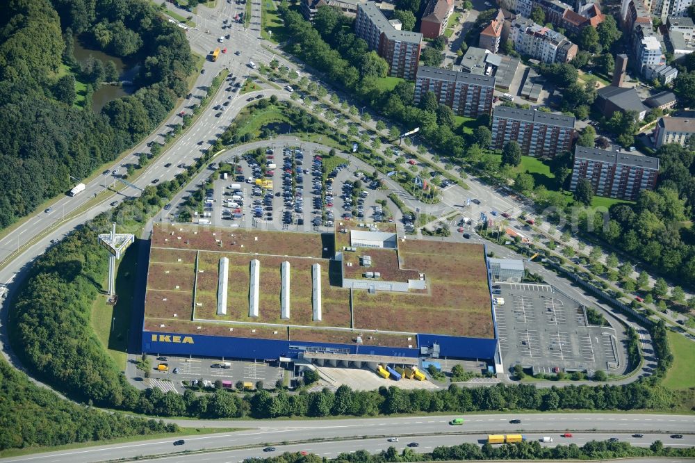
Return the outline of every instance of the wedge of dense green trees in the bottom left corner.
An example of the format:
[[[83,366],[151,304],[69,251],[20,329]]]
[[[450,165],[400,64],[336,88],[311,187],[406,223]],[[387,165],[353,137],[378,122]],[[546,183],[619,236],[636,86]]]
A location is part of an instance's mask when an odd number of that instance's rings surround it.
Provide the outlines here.
[[[101,412],[38,387],[0,359],[0,450],[177,432],[177,425]]]

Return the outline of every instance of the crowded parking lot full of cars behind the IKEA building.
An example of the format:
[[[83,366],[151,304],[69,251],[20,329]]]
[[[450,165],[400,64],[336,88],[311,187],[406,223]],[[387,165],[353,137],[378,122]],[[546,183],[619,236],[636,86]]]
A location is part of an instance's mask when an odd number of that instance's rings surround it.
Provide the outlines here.
[[[331,231],[345,218],[391,221],[394,204],[384,207],[388,191],[349,163],[333,162],[324,174],[322,152],[270,145],[261,153],[225,159],[232,172],[206,188],[203,212],[194,222],[216,227],[245,227],[299,232]],[[211,172],[220,166],[213,163]],[[356,183],[357,182],[357,183]],[[390,203],[390,200],[388,201]],[[183,202],[178,205],[179,212]],[[400,214],[399,214],[400,215]]]

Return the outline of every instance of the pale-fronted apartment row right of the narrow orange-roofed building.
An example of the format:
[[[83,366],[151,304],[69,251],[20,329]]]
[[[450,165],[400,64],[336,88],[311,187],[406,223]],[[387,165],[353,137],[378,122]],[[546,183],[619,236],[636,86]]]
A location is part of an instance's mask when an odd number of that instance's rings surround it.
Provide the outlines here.
[[[518,16],[509,27],[509,40],[518,53],[536,58],[543,63],[569,63],[578,47],[564,35]]]

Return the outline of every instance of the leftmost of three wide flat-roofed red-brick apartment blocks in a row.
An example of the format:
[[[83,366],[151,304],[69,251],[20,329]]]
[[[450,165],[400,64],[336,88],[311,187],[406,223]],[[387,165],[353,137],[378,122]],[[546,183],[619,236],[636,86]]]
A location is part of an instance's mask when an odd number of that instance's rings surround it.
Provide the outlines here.
[[[415,82],[415,102],[433,92],[440,104],[452,108],[456,115],[478,117],[492,111],[495,78],[439,67],[420,66]]]

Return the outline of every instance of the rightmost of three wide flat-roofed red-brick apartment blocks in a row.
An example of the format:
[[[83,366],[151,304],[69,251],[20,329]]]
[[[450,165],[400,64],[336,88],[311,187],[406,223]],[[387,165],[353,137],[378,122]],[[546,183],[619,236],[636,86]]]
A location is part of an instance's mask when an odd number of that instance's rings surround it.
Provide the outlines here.
[[[658,158],[578,146],[570,189],[589,179],[595,195],[634,201],[641,190],[655,188],[658,172]]]

